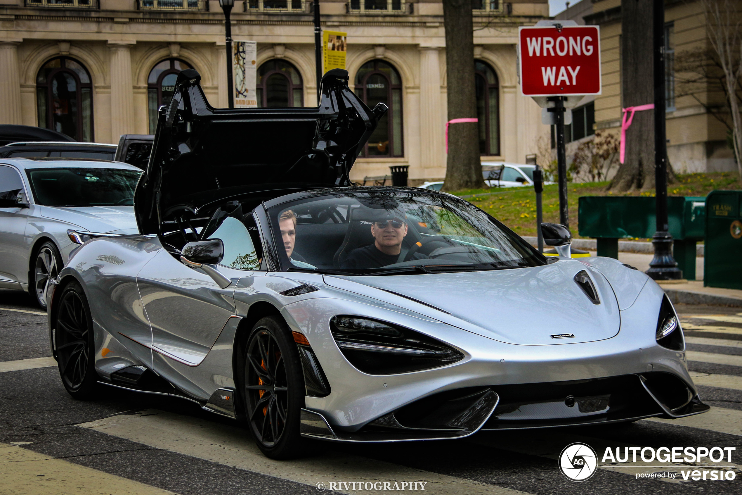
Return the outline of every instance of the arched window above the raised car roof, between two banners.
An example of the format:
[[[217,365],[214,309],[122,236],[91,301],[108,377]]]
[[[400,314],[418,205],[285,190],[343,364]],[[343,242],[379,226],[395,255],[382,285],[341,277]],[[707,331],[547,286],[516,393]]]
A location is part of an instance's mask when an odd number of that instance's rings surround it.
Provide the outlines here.
[[[285,60],[269,60],[257,69],[257,106],[303,107],[301,74]]]

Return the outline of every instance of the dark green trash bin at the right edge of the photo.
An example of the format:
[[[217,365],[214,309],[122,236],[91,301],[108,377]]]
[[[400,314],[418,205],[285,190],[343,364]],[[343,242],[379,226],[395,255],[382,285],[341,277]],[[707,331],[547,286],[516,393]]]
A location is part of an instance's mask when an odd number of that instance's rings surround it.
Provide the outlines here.
[[[742,289],[742,191],[706,196],[703,285]]]

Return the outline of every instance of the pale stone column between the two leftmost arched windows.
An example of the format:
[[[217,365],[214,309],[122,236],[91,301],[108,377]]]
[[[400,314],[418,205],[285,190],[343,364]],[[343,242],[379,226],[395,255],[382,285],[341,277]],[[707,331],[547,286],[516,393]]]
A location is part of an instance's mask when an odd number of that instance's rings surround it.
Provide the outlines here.
[[[134,82],[131,76],[131,44],[109,42],[111,48],[111,140],[134,134]]]

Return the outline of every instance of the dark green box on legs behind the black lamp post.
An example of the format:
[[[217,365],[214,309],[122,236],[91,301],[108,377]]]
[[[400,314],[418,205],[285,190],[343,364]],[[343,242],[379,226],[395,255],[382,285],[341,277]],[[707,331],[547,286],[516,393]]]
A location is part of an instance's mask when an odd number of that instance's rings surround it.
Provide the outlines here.
[[[673,255],[683,276],[695,280],[695,245],[705,228],[703,196],[667,198]],[[657,230],[656,199],[643,196],[582,196],[578,222],[582,237],[596,237],[598,256],[618,258],[618,240],[651,238]]]

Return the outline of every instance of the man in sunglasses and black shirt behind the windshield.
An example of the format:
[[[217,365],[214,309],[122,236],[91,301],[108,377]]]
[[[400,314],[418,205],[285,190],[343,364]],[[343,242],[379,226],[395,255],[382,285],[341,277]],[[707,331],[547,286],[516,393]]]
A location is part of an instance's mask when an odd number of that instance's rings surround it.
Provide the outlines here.
[[[345,263],[345,268],[379,268],[401,261],[402,240],[407,235],[407,222],[401,217],[404,214],[390,212],[386,217],[371,224],[371,235],[374,243],[358,249],[353,249]],[[416,253],[413,259],[425,258]]]

